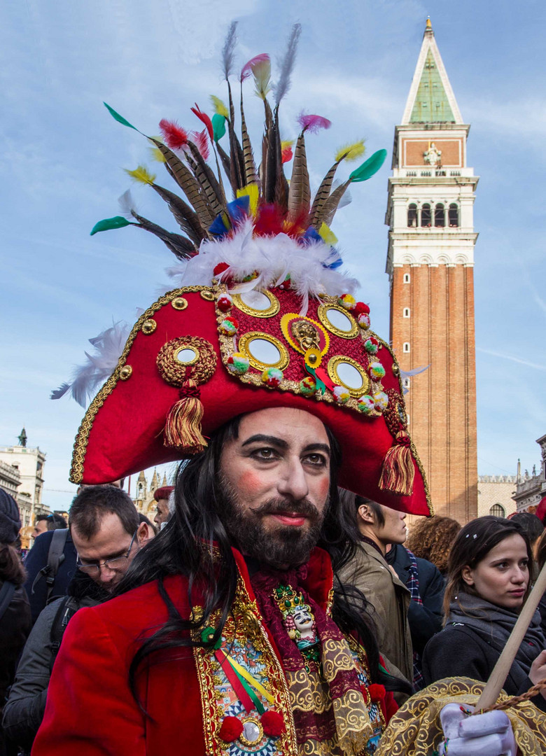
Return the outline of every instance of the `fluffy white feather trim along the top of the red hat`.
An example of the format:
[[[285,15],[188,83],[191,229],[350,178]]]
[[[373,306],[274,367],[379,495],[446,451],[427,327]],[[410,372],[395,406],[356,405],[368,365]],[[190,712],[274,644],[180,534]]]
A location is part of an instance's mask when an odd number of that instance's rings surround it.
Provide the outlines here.
[[[188,262],[181,262],[167,269],[175,279],[176,288],[185,286],[209,286],[214,277],[214,268],[220,262],[230,266],[228,271],[217,276],[242,280],[258,271],[258,277],[247,283],[237,283],[232,291],[244,292],[267,289],[283,283],[290,275],[291,287],[302,298],[302,314],[306,314],[309,296],[318,299],[325,294],[340,296],[354,293],[358,288],[355,278],[324,267],[340,260],[340,254],[330,244],[311,241],[301,246],[287,234],[271,237],[253,236],[252,221],[247,221],[228,239],[203,241],[199,254]]]

